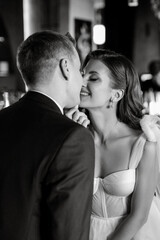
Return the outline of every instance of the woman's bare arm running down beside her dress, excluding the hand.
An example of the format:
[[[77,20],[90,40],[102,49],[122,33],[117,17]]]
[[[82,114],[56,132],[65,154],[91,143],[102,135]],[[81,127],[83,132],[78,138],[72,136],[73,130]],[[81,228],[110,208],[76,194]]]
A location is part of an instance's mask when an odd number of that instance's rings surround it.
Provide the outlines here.
[[[156,143],[147,141],[136,171],[130,213],[109,240],[131,240],[148,218],[158,176]]]

